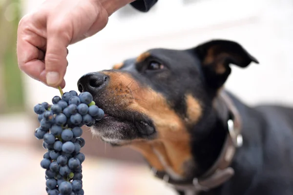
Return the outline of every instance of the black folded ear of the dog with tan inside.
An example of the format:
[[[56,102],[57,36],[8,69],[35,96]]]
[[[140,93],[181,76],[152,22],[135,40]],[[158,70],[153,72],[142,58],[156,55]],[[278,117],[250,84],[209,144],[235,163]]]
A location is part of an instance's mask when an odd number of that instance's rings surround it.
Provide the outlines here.
[[[229,40],[212,40],[192,50],[201,61],[207,83],[214,89],[221,87],[228,78],[230,64],[244,68],[251,61],[258,63],[240,44]]]

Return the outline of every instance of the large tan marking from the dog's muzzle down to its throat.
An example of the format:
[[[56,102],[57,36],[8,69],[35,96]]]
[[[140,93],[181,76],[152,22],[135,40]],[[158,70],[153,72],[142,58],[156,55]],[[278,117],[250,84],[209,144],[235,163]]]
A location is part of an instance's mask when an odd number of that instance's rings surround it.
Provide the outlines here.
[[[162,94],[140,86],[129,74],[103,73],[109,76],[105,96],[109,101],[107,104],[119,112],[136,111],[146,115],[152,119],[158,132],[155,140],[133,140],[131,148],[141,152],[151,166],[162,170],[163,165],[153,150],[159,151],[175,173],[184,175],[184,163],[192,160],[190,137],[184,120],[175,113]],[[110,92],[117,88],[119,90]]]

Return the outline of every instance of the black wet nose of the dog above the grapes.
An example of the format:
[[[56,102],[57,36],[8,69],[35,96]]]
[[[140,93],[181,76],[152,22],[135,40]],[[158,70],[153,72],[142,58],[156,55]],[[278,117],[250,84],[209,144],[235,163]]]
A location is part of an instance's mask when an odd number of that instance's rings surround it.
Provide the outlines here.
[[[77,82],[78,90],[80,92],[84,92],[84,91],[96,92],[97,90],[100,90],[101,88],[103,88],[107,80],[108,80],[108,76],[103,73],[99,73],[99,72],[88,73],[82,76],[78,80]]]

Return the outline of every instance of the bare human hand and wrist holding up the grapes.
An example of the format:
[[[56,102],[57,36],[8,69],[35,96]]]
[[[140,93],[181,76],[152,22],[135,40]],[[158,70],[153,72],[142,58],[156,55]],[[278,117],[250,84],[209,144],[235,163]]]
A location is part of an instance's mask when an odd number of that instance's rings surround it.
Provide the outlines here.
[[[132,1],[45,0],[19,23],[19,68],[48,86],[63,88],[68,45],[101,31],[112,13]]]

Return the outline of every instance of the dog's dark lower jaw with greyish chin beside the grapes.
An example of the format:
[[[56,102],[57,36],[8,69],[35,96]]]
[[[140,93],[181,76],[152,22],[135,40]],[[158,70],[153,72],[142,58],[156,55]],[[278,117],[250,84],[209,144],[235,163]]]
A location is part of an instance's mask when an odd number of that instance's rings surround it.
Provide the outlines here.
[[[91,128],[92,134],[113,146],[129,144],[134,139],[152,139],[155,127],[150,120],[132,121],[105,114]]]

